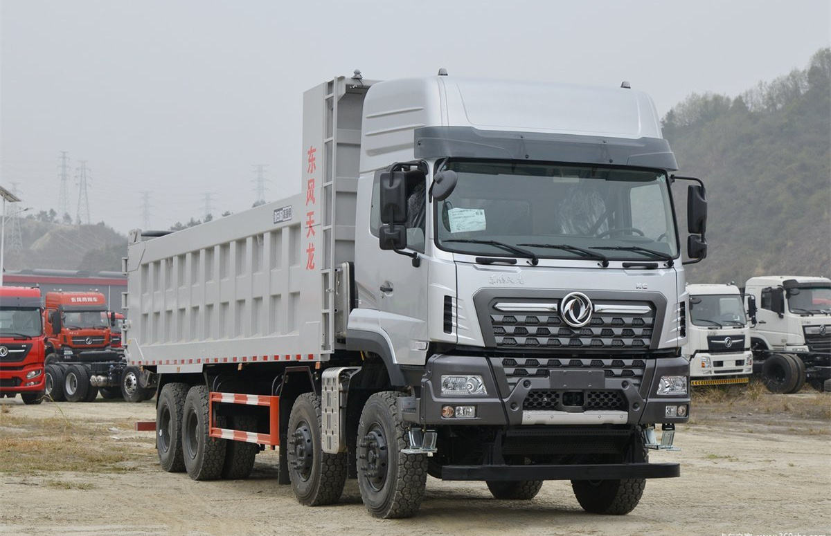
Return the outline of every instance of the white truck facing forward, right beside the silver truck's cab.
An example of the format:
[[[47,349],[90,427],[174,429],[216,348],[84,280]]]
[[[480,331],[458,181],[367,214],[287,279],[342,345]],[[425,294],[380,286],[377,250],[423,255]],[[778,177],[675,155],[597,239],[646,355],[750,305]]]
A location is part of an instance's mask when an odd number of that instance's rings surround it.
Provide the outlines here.
[[[736,285],[686,285],[690,295],[683,355],[693,386],[747,383],[753,374],[750,329]]]

